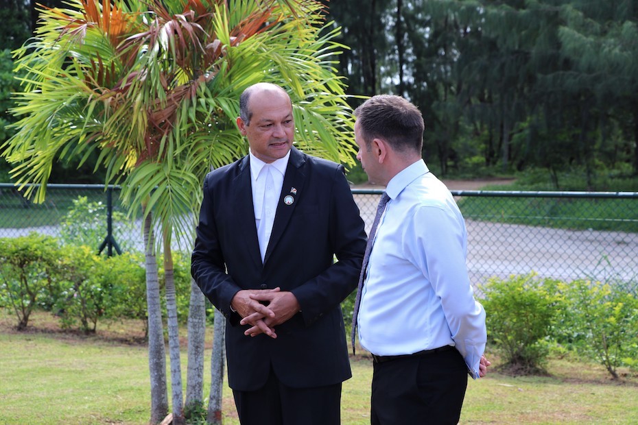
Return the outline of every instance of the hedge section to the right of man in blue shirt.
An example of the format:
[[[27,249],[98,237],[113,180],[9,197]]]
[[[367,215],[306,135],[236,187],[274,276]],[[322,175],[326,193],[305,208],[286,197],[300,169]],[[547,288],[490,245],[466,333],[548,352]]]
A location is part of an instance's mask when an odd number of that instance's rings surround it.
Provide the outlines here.
[[[563,282],[535,274],[482,287],[488,344],[514,374],[543,372],[551,352],[638,371],[638,282]]]

